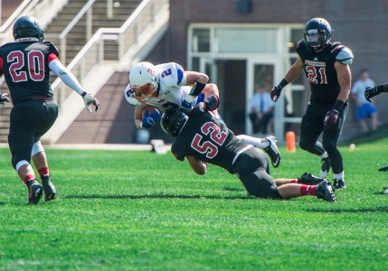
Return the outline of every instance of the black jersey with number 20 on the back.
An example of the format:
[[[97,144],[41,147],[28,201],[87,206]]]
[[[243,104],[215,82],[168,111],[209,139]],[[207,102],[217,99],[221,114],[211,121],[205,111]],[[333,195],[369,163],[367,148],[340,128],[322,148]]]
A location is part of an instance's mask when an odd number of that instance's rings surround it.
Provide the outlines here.
[[[0,47],[0,75],[5,75],[13,103],[53,98],[49,63],[58,54],[52,42],[9,42]]]

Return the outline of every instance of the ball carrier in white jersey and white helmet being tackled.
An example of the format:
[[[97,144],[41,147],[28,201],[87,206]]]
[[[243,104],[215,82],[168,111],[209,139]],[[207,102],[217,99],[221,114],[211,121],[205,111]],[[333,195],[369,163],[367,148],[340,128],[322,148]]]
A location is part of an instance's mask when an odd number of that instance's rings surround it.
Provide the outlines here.
[[[128,103],[135,106],[137,129],[147,129],[160,121],[160,111],[180,108],[190,112],[192,107],[209,95],[219,96],[217,85],[208,84],[209,77],[184,68],[175,63],[154,66],[150,62],[139,62],[129,71],[129,83],[124,90]],[[156,108],[152,108],[152,107]],[[149,111],[147,111],[149,107]],[[213,113],[219,117],[217,109]],[[270,155],[272,165],[280,164],[280,153],[275,137],[256,138],[239,135],[246,144],[263,148]]]

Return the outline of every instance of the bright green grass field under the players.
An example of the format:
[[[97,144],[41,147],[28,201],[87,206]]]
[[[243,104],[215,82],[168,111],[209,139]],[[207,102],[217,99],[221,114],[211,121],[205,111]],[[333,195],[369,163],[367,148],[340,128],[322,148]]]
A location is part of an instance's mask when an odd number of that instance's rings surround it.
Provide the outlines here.
[[[314,155],[280,150],[274,178],[318,173]],[[330,203],[247,197],[170,153],[47,149],[58,201],[26,206],[2,148],[0,270],[387,270],[388,140],[341,150],[347,188]]]

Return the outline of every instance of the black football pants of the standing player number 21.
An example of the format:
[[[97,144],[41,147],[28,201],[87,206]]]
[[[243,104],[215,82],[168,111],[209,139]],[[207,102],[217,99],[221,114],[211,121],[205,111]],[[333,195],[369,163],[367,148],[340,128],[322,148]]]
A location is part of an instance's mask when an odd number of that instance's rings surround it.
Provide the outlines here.
[[[305,115],[302,117],[300,126],[299,146],[311,154],[322,155],[325,151],[331,160],[333,173],[342,173],[344,164],[342,155],[337,148],[339,136],[344,127],[347,114],[347,103],[338,112],[336,125],[326,128],[324,121],[327,111],[333,108],[332,104],[314,104],[308,105]],[[322,144],[317,141],[322,133]]]

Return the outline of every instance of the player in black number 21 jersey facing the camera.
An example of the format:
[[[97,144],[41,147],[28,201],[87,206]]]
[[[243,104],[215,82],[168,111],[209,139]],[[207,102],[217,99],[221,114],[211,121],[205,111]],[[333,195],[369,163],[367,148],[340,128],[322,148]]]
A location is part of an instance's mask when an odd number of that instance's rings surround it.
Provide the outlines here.
[[[331,42],[331,32],[330,24],[323,18],[308,21],[305,38],[297,45],[297,61],[270,95],[277,101],[281,90],[305,70],[311,97],[302,117],[299,145],[322,158],[321,178],[326,178],[331,166],[335,188],[344,189],[344,165],[337,142],[347,112],[353,53],[343,44]],[[321,144],[317,138],[322,132]]]

